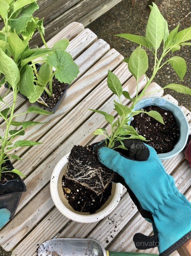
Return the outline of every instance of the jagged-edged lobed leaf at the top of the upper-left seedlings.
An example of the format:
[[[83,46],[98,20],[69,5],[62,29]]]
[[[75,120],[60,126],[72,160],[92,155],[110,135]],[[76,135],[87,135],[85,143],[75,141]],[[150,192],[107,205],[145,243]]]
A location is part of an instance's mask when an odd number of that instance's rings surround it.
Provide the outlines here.
[[[11,30],[14,31],[15,29],[17,34],[21,34],[22,32],[26,32],[28,34],[29,27],[30,29],[31,29],[31,26],[34,27],[34,22],[32,22],[32,14],[37,9],[39,9],[39,6],[36,2],[31,3],[28,6],[24,7],[18,18],[9,20],[9,25],[11,27]],[[31,22],[31,24],[28,27],[29,22]],[[28,31],[26,31],[27,27],[28,27]],[[35,25],[35,29],[36,29],[36,25]]]

